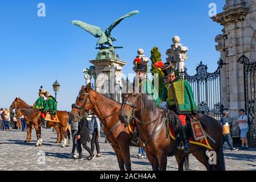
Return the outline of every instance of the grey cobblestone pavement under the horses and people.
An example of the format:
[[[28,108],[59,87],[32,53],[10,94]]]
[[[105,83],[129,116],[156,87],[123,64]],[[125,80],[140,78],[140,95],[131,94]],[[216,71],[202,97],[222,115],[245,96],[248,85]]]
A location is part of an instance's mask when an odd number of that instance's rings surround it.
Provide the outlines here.
[[[1,170],[119,170],[117,159],[109,143],[104,143],[105,138],[100,138],[101,158],[89,160],[75,160],[68,158],[71,146],[61,148],[54,143],[56,133],[51,129],[42,129],[43,145],[35,147],[36,135],[32,131],[32,142],[25,143],[26,132],[21,130],[0,131],[0,171]],[[71,144],[72,145],[72,144]],[[131,148],[131,162],[133,170],[151,170],[147,159],[137,159],[138,148]],[[256,170],[256,148],[249,151],[238,150],[231,152],[225,150],[226,169]],[[45,154],[45,164],[42,154]],[[83,155],[88,155],[83,149]],[[167,169],[177,170],[174,157],[168,158]],[[190,155],[190,170],[205,170],[193,155]]]

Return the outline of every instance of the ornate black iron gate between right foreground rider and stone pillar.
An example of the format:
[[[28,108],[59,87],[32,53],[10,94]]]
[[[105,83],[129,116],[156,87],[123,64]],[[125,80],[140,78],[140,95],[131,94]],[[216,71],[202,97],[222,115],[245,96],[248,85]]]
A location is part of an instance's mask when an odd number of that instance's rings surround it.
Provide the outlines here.
[[[208,114],[216,119],[221,118],[221,68],[223,61],[218,61],[218,68],[213,73],[207,72],[207,65],[202,64],[196,67],[196,75],[190,76],[185,68],[185,80],[187,80],[194,92],[194,100],[198,111],[201,114]]]

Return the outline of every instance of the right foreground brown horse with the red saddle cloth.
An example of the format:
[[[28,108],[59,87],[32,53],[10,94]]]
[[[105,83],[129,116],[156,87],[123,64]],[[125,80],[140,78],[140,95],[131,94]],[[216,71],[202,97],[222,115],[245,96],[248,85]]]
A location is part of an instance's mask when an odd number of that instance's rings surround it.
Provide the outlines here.
[[[120,112],[120,120],[128,125],[130,117],[139,119],[137,130],[140,137],[140,144],[146,151],[153,170],[166,170],[167,156],[172,150],[174,140],[166,137],[166,115],[163,109],[157,107],[156,102],[149,99],[145,93],[125,94],[124,102]],[[191,153],[199,162],[204,164],[208,170],[225,170],[224,154],[222,150],[222,126],[216,119],[208,115],[198,114],[202,127],[216,142],[209,140],[210,146],[216,152],[217,164],[211,165],[206,155],[206,148],[190,144]],[[164,124],[163,124],[164,123]],[[177,151],[176,159],[178,169],[183,169],[184,156],[188,153]]]

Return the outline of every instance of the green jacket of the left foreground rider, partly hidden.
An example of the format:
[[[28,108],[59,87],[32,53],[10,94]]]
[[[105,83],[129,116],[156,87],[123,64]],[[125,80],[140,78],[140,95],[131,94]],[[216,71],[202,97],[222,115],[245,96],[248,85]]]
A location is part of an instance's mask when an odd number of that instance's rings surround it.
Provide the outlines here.
[[[159,99],[159,94],[156,92],[155,87],[152,85],[151,81],[145,79],[144,81],[139,82],[140,88],[144,90],[148,94],[148,96],[152,97],[156,102],[157,106],[161,107],[161,101]]]

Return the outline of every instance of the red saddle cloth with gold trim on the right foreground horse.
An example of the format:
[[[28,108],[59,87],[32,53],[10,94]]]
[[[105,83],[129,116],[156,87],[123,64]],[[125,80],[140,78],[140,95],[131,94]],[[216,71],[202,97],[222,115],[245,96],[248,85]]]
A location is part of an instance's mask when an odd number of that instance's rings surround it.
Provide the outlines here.
[[[169,125],[169,119],[168,119],[168,125]],[[194,137],[189,138],[189,143],[191,144],[197,144],[198,146],[202,146],[205,148],[209,148],[210,150],[213,150],[213,148],[210,146],[207,137],[204,134],[204,129],[202,128],[199,121],[192,122],[191,123],[193,135]],[[176,133],[174,131],[173,126],[169,125],[169,134],[170,138],[173,140],[176,139]]]

